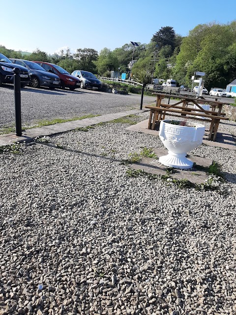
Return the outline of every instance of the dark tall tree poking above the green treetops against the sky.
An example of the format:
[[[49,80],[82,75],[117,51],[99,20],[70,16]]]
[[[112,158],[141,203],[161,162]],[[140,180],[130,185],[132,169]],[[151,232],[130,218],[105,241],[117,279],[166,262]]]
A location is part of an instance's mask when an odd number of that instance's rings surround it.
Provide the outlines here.
[[[155,42],[159,49],[170,45],[172,50],[174,50],[176,47],[176,33],[171,26],[162,27],[152,36],[151,41]]]

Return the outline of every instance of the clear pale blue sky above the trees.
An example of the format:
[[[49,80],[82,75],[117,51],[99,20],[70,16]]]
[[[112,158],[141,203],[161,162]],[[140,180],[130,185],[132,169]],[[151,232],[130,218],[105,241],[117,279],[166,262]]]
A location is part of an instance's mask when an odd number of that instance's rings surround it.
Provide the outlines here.
[[[149,43],[161,27],[185,36],[198,24],[236,19],[235,0],[0,0],[0,45],[53,54],[61,47],[114,50]]]

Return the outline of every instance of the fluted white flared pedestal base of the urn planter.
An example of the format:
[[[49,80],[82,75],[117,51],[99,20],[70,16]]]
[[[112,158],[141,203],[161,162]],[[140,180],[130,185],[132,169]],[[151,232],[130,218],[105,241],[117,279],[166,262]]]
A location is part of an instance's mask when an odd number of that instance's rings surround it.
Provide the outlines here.
[[[167,156],[159,158],[159,162],[165,166],[170,166],[180,169],[189,169],[193,167],[193,162],[186,158],[186,154],[175,154],[168,151]]]

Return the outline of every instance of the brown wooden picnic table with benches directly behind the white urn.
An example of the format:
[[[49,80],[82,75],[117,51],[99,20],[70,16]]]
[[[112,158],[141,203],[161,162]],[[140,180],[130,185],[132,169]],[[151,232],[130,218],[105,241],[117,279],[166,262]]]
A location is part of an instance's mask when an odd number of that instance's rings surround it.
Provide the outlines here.
[[[222,112],[222,107],[224,104],[214,100],[207,100],[204,97],[190,97],[190,96],[180,96],[172,95],[173,98],[178,98],[174,104],[164,104],[162,99],[165,97],[170,97],[168,94],[152,93],[156,95],[156,106],[145,106],[145,108],[150,109],[150,116],[148,121],[148,129],[155,129],[156,122],[160,123],[161,120],[165,119],[165,115],[174,116],[174,117],[184,117],[185,119],[194,119],[202,122],[209,122],[209,136],[208,140],[215,141],[218,126],[220,120],[229,120],[225,117],[225,113]],[[211,110],[205,110],[201,107],[203,104],[209,104]],[[181,105],[181,106],[180,106]],[[194,108],[193,105],[196,105]],[[197,113],[196,113],[197,111]],[[196,117],[198,116],[198,117]]]

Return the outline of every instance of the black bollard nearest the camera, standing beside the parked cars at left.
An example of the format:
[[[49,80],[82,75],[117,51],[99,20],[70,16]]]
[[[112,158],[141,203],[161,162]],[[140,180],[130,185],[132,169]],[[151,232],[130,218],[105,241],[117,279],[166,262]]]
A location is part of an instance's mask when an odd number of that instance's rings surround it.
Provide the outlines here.
[[[22,136],[21,127],[21,70],[17,67],[13,69],[14,71],[14,94],[15,94],[15,116],[16,116],[16,135]]]

